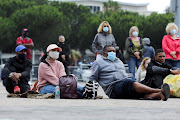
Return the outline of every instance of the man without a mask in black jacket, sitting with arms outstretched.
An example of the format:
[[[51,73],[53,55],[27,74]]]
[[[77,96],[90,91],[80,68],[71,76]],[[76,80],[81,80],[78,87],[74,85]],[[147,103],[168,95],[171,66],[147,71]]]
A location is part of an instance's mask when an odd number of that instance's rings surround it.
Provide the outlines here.
[[[167,75],[180,74],[180,70],[165,63],[165,53],[162,49],[156,50],[154,60],[151,60],[146,70],[146,77],[142,83],[152,88],[161,88]]]

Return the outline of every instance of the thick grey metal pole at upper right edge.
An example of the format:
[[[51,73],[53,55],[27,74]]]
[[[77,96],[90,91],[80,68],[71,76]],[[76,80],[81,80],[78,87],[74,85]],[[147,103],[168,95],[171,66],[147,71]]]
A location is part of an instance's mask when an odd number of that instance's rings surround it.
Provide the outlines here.
[[[174,19],[174,22],[179,29],[177,34],[180,36],[180,0],[176,0],[176,10]]]

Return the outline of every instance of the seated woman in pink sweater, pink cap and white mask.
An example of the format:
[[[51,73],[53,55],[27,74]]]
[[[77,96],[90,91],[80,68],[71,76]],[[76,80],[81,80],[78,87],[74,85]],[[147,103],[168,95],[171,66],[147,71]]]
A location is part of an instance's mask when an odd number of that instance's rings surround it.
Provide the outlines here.
[[[59,78],[66,75],[63,64],[56,60],[61,51],[62,49],[56,44],[50,44],[46,49],[45,55],[41,58],[37,84],[40,94],[54,93],[56,85],[59,84]],[[77,84],[77,92],[80,95],[82,95],[83,88]]]

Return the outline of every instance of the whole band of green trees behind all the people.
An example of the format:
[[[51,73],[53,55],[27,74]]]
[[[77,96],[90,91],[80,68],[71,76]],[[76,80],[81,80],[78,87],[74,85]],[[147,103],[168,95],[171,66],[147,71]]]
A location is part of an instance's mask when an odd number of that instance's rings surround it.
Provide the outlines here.
[[[123,11],[117,2],[104,3],[105,12],[92,14],[89,7],[69,2],[48,0],[0,0],[0,48],[12,52],[22,28],[30,30],[35,49],[45,49],[50,43],[58,42],[64,35],[72,49],[91,49],[94,36],[102,21],[108,21],[120,49],[131,26],[139,28],[140,37],[149,37],[155,48],[161,48],[165,27],[173,22],[173,14],[152,13],[142,16]],[[6,42],[4,42],[6,41]]]

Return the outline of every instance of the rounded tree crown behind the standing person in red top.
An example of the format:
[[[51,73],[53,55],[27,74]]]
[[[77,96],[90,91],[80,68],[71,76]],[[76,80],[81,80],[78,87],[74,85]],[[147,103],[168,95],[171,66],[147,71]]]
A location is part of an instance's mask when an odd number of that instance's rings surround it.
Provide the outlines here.
[[[62,13],[47,5],[17,10],[10,18],[17,25],[17,37],[22,28],[30,30],[35,48],[45,48],[48,44],[56,42],[59,32],[68,29],[63,22],[65,20]]]

